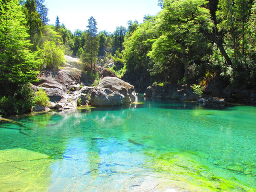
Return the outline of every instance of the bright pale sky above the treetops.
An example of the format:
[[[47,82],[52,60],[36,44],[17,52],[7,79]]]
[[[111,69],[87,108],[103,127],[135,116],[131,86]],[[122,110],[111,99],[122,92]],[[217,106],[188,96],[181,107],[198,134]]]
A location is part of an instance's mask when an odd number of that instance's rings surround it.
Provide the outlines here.
[[[127,28],[128,20],[143,22],[143,16],[156,15],[161,9],[158,0],[45,0],[49,9],[49,24],[55,24],[57,15],[61,24],[71,30],[84,31],[88,19],[96,19],[98,31],[113,33],[117,26]]]

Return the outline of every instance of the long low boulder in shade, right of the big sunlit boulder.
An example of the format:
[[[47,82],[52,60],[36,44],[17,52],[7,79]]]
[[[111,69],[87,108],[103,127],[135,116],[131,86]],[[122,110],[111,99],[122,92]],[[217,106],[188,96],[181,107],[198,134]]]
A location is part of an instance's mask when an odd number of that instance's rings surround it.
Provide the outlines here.
[[[144,96],[187,101],[196,101],[199,99],[199,96],[194,93],[194,90],[191,86],[187,84],[178,85],[172,83],[164,84],[163,86],[158,84],[149,86],[147,87]]]

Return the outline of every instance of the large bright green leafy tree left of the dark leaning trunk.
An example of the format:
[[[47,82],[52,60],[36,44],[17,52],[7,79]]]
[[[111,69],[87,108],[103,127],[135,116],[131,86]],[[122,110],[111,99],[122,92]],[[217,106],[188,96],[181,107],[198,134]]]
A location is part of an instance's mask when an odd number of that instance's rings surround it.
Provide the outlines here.
[[[148,54],[154,59],[151,74],[161,74],[165,81],[188,78],[188,66],[195,62],[195,53],[205,55],[209,46],[201,31],[214,27],[206,0],[166,0],[158,15],[158,30],[162,35]],[[183,72],[183,76],[179,74]],[[178,79],[171,79],[176,76]]]

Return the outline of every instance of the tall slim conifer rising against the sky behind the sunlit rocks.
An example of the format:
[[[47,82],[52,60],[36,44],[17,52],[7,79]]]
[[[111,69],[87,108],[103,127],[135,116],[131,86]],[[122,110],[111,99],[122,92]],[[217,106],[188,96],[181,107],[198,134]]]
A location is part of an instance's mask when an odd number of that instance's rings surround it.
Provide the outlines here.
[[[97,36],[97,22],[94,17],[88,19],[87,25],[87,43],[84,46],[85,52],[82,55],[82,61],[89,63],[91,72],[96,68],[96,61],[98,56],[98,36]]]

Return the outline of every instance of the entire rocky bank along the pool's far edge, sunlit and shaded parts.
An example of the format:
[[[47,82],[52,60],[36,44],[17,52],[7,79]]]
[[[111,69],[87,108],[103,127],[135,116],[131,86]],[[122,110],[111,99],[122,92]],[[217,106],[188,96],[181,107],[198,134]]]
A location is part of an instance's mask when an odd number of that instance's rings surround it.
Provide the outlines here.
[[[42,71],[40,80],[32,88],[45,90],[50,99],[51,109],[73,109],[80,105],[117,106],[137,99],[134,86],[119,79],[109,69],[97,69],[101,78],[98,86],[92,86],[92,79],[82,70],[78,59],[65,56],[65,67],[59,71]],[[173,100],[198,101],[202,106],[224,106],[226,102],[256,105],[256,89],[225,87],[214,81],[201,87],[202,95],[195,93],[193,86],[168,83],[153,84],[146,88],[145,97]],[[143,85],[144,86],[144,85]],[[142,87],[143,87],[142,86]],[[142,88],[140,87],[140,88]],[[36,106],[35,111],[48,110]]]

